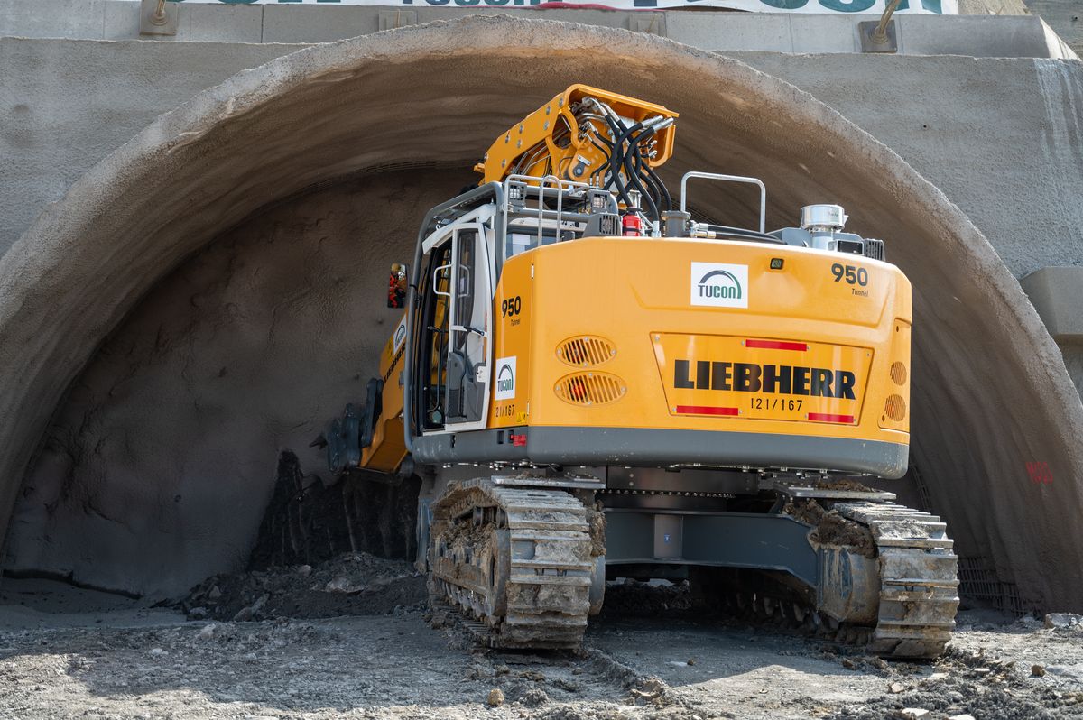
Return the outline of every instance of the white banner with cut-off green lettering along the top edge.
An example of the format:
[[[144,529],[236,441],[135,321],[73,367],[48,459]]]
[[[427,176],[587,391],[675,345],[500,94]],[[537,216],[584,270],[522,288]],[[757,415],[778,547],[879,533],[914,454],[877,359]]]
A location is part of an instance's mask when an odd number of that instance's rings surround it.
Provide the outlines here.
[[[679,10],[725,8],[762,13],[861,13],[879,15],[889,0],[170,0],[227,5],[381,5],[392,8],[591,8],[603,10]],[[958,0],[902,0],[902,15],[957,15]]]

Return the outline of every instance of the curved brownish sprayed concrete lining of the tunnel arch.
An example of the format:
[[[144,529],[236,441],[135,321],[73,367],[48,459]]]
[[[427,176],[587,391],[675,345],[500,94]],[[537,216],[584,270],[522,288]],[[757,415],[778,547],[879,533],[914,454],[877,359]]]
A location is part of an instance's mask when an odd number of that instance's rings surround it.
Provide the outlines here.
[[[404,163],[469,167],[497,132],[577,81],[681,113],[670,183],[688,169],[758,175],[771,188],[771,226],[830,198],[851,210],[849,228],[888,238],[914,283],[913,454],[934,506],[961,552],[990,558],[1027,605],[1078,610],[1083,579],[1056,568],[1083,561],[1083,540],[1064,532],[1083,510],[1083,407],[1018,283],[963,213],[838,114],[742,63],[622,30],[508,17],[319,45],[242,73],[159,118],[47,210],[0,261],[0,518],[65,392],[78,392],[73,381],[185,259],[305,187]],[[753,199],[716,192],[696,205],[744,222]],[[379,202],[371,213],[378,221]],[[414,226],[387,232],[408,237]],[[185,448],[159,440],[162,461],[183,464]],[[1039,467],[1048,472],[1035,482]],[[156,519],[174,497],[168,482],[146,483],[143,497],[97,508],[126,527],[129,549],[118,544],[96,564],[68,559],[77,579],[173,592],[235,562],[220,557],[222,542],[250,541],[237,538],[261,502],[231,506],[234,522],[198,532],[182,513],[170,527],[178,557],[141,557],[130,547],[161,532]],[[174,505],[200,512],[199,502]]]

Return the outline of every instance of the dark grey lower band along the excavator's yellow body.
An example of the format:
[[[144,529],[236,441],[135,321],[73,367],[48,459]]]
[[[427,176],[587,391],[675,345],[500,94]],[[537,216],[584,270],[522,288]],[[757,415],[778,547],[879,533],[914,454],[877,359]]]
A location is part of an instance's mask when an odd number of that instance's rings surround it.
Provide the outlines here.
[[[526,435],[512,445],[509,435]],[[516,428],[418,437],[418,462],[527,461],[538,464],[787,468],[867,473],[896,480],[906,473],[910,446],[841,437],[642,428]]]

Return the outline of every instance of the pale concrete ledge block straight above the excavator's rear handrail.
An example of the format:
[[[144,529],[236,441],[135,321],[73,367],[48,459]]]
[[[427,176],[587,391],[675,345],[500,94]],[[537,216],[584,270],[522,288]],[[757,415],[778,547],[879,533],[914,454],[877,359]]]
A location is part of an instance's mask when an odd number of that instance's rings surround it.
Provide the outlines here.
[[[669,37],[704,50],[793,52],[790,15],[774,13],[673,12]]]

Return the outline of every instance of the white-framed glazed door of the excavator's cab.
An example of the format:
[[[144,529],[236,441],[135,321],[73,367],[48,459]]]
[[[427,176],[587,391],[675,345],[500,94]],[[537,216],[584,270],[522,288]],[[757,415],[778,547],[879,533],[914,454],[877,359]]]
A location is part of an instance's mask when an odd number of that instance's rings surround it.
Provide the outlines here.
[[[451,249],[445,423],[448,430],[473,430],[485,427],[493,352],[494,290],[485,227],[456,228]]]

